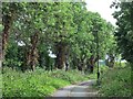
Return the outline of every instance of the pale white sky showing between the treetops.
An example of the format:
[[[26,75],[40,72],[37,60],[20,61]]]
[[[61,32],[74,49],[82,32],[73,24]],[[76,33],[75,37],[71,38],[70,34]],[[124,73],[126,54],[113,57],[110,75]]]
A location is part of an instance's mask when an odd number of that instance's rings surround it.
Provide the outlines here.
[[[115,10],[110,8],[112,1],[114,0],[85,0],[89,11],[99,12],[103,19],[115,25],[116,20],[112,15]]]

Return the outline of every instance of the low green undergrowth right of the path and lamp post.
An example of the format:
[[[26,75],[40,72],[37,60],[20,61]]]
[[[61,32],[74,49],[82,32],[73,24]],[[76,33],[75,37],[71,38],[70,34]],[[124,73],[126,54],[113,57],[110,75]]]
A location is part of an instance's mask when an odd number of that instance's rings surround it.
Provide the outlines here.
[[[109,69],[102,75],[100,95],[108,97],[131,96],[131,67]]]

